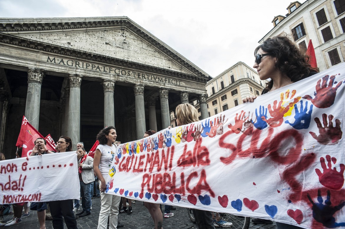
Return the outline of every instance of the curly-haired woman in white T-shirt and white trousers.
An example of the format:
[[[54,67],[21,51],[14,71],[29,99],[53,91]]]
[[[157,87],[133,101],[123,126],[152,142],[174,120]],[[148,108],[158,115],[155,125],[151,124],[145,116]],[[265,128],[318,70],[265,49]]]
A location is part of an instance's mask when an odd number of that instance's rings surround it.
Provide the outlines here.
[[[97,134],[99,145],[96,148],[95,157],[93,159],[93,170],[95,171],[99,181],[99,190],[101,191],[101,210],[98,218],[98,229],[106,229],[108,216],[110,229],[117,227],[117,215],[119,214],[120,196],[105,193],[106,181],[109,177],[109,170],[112,159],[116,152],[115,127],[106,127]]]

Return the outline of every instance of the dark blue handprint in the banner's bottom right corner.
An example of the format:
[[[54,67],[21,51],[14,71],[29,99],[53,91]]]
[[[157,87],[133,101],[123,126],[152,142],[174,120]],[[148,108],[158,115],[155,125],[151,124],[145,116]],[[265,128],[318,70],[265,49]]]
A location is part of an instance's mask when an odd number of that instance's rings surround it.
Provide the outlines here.
[[[327,190],[327,199],[325,200],[325,204],[323,204],[323,199],[321,196],[321,190],[317,191],[317,201],[319,203],[315,203],[312,198],[310,197],[309,193],[307,194],[309,201],[312,203],[313,207],[313,218],[321,222],[325,227],[328,228],[336,228],[336,227],[344,227],[345,222],[336,222],[333,215],[335,212],[341,210],[344,205],[345,201],[341,201],[341,203],[337,206],[331,206],[331,192]]]

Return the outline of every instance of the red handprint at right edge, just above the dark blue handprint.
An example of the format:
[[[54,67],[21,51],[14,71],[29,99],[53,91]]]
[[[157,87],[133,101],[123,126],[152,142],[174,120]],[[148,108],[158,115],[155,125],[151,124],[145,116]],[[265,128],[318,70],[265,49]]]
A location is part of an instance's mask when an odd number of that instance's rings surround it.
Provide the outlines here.
[[[319,181],[323,186],[333,190],[339,190],[343,187],[344,184],[345,165],[340,164],[340,172],[337,172],[336,168],[333,168],[332,170],[332,162],[333,164],[335,164],[337,162],[337,159],[335,157],[331,158],[331,156],[326,155],[326,160],[328,162],[328,168],[326,166],[325,159],[323,157],[320,157],[323,173],[318,168],[315,169],[315,172],[319,176]]]

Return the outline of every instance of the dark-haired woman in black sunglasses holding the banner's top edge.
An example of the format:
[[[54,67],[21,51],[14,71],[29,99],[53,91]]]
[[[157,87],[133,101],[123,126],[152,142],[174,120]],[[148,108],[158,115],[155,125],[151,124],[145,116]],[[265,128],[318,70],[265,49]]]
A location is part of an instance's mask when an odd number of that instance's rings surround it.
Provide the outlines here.
[[[253,67],[260,79],[270,79],[262,95],[318,73],[318,69],[308,64],[309,57],[286,35],[268,38],[256,47],[254,56]],[[254,99],[256,96],[247,96],[242,101],[254,102]]]

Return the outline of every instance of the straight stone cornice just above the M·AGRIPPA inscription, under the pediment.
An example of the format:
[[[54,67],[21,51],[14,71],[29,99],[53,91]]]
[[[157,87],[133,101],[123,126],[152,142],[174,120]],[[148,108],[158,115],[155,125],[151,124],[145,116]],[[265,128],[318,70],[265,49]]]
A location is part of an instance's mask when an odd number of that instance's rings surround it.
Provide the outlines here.
[[[115,57],[109,57],[105,55],[100,55],[96,53],[90,53],[86,51],[75,50],[73,48],[67,48],[63,46],[43,43],[39,41],[34,41],[18,36],[13,36],[5,33],[0,33],[0,43],[16,45],[20,47],[30,48],[38,51],[48,52],[55,55],[70,56],[78,59],[86,59],[91,62],[98,62],[107,65],[116,65],[131,69],[143,70],[146,72],[156,73],[164,76],[172,76],[184,80],[196,81],[199,83],[206,84],[208,78],[201,78],[199,76],[188,75],[185,73],[175,72],[165,68],[154,67],[150,65],[140,64],[132,61],[126,61],[124,59],[119,59]]]

